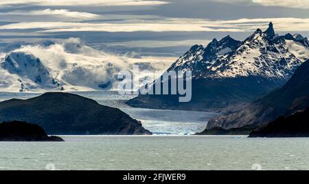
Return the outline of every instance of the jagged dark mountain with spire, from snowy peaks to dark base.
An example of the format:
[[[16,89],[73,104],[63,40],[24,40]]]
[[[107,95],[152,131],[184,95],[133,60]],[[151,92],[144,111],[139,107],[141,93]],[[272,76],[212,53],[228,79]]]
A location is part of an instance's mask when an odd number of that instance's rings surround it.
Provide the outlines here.
[[[179,103],[173,95],[140,95],[128,104],[166,109],[222,109],[283,86],[308,59],[308,38],[300,34],[279,36],[273,23],[269,23],[266,31],[257,29],[242,42],[230,36],[214,39],[207,47],[194,45],[179,57],[168,71],[192,70],[189,103]]]

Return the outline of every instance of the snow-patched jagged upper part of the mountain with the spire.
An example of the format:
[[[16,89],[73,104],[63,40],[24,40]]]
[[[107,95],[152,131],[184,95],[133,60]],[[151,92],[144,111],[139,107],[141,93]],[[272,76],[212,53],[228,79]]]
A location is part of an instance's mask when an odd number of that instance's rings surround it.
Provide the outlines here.
[[[270,23],[243,42],[227,36],[214,39],[206,48],[195,45],[169,70],[192,70],[194,78],[269,77],[289,79],[297,66],[309,58],[309,42],[300,34],[275,34]]]

